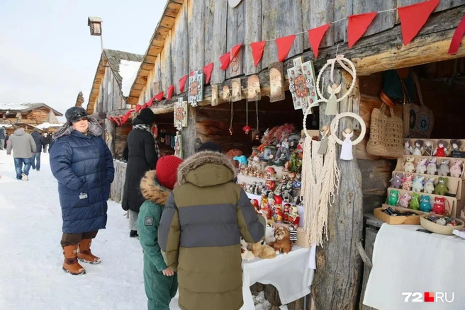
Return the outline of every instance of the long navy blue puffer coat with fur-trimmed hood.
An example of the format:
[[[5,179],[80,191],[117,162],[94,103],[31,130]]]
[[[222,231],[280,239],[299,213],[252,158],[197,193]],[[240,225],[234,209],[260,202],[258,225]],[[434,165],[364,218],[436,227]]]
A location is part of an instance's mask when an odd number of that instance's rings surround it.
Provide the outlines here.
[[[99,122],[89,118],[87,135],[66,125],[53,134],[50,168],[58,180],[64,233],[96,231],[106,226],[106,201],[115,169],[101,133]]]

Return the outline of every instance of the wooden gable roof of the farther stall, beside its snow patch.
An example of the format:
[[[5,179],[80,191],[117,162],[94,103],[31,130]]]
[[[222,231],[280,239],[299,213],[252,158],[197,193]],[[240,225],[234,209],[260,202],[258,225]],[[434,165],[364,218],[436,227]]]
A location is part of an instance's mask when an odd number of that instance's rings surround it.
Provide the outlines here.
[[[142,62],[142,58],[143,56],[140,54],[104,49],[100,56],[99,65],[97,66],[97,71],[94,76],[94,83],[92,83],[91,93],[89,94],[89,99],[87,101],[87,113],[94,113],[94,104],[96,98],[99,96],[101,81],[103,80],[103,76],[105,76],[105,69],[107,67],[111,69],[113,76],[115,76],[118,83],[119,91],[121,92],[121,84],[123,82],[123,79],[119,74],[121,59],[133,62]],[[123,95],[123,93],[121,94]]]

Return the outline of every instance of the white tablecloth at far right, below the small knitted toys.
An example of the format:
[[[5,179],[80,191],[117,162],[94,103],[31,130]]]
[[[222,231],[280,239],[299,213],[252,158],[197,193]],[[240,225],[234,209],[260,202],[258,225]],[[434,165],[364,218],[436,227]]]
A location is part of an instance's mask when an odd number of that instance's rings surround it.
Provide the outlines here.
[[[383,224],[374,243],[364,304],[379,310],[465,309],[465,240],[420,225]],[[403,292],[443,292],[454,302],[405,302]],[[422,297],[424,299],[424,297]]]

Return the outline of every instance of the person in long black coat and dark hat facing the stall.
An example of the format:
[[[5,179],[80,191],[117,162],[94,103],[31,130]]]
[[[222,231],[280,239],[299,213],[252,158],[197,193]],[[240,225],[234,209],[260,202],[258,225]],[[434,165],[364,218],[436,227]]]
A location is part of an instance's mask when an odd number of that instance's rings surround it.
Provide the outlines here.
[[[145,202],[140,193],[140,180],[145,173],[154,170],[159,158],[157,141],[151,132],[155,125],[155,114],[150,108],[140,110],[133,120],[133,130],[128,134],[123,157],[128,161],[124,182],[122,206],[129,212],[130,237],[138,236],[138,214]]]

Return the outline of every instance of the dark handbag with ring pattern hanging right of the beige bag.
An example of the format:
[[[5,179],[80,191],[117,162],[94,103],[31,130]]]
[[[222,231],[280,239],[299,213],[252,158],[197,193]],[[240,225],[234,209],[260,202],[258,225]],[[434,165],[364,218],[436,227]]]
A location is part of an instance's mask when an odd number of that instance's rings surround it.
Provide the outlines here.
[[[415,73],[412,73],[413,81],[417,87],[420,105],[405,103],[403,105],[403,137],[406,138],[429,138],[432,127],[435,125],[435,117],[432,110],[423,103],[420,83]]]

